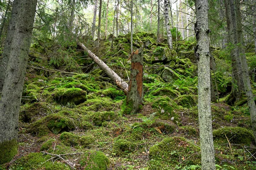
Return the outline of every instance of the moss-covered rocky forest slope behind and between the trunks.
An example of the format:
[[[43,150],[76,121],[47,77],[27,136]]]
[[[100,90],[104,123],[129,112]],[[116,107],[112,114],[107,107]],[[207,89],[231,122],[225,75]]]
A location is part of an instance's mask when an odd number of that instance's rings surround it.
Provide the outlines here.
[[[113,48],[108,39],[98,48],[94,42],[88,45],[127,82],[129,36],[116,37]],[[55,59],[45,57],[50,47],[31,47],[18,153],[0,170],[200,170],[195,43],[175,42],[174,51],[156,43],[153,34],[133,36],[134,49],[144,46],[145,62],[143,108],[133,115],[122,107],[124,92],[78,47],[59,49]],[[64,54],[70,58],[58,58]],[[225,103],[231,63],[217,49],[213,55],[217,71],[212,81],[221,101],[212,103],[216,169],[256,170],[247,104]],[[256,95],[254,81],[252,87]]]

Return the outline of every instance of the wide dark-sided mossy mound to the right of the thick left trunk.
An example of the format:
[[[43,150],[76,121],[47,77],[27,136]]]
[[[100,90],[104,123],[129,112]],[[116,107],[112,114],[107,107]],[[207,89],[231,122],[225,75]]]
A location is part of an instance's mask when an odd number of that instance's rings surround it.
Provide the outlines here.
[[[70,131],[75,129],[74,121],[61,114],[51,114],[29,125],[28,133],[38,137],[47,135],[50,131],[55,134],[61,131]]]

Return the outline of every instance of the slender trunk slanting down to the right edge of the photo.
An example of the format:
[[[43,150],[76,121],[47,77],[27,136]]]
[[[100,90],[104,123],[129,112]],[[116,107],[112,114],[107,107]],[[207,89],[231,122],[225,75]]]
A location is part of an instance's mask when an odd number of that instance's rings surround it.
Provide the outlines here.
[[[244,48],[242,46],[243,44],[243,35],[242,35],[242,21],[241,21],[241,12],[240,12],[240,1],[235,0],[235,12],[236,12],[236,25],[237,25],[237,34],[238,34],[238,43],[239,45],[239,54],[240,54],[240,60],[241,60],[241,69],[242,69],[242,77],[244,81],[244,89],[245,94],[247,97],[248,107],[250,111],[250,117],[252,122],[252,129],[253,129],[253,135],[254,139],[256,141],[256,106],[253,99],[253,92],[250,85],[250,78],[249,78],[249,71],[246,61],[246,56],[244,53]]]

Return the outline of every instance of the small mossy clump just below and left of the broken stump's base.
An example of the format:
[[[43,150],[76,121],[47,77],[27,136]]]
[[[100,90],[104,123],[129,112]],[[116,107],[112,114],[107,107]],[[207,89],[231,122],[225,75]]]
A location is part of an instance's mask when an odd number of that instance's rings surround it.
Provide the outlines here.
[[[116,117],[115,112],[95,112],[92,121],[96,126],[101,126],[103,121],[110,121]]]

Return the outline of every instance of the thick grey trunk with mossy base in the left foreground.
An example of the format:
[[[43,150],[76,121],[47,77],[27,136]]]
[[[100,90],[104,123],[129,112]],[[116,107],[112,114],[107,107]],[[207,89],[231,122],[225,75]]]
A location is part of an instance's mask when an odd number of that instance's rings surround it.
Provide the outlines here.
[[[17,153],[20,101],[37,0],[18,0],[18,3],[20,10],[0,99],[0,164],[11,161]]]

